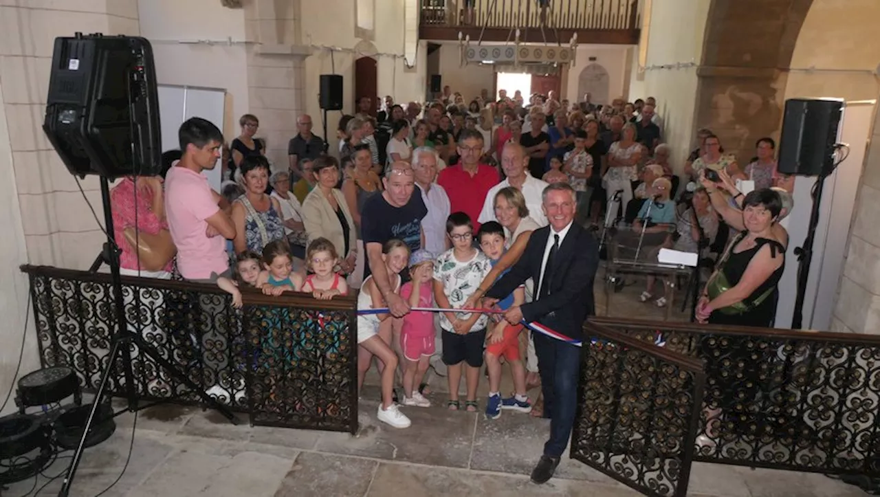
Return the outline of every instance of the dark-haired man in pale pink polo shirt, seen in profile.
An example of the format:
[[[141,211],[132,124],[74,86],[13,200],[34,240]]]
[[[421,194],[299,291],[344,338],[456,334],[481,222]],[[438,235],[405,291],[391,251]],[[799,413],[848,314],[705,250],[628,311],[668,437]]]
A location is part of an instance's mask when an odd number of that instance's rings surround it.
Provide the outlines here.
[[[191,281],[215,282],[229,277],[226,239],[235,238],[235,225],[219,204],[224,201],[202,174],[214,169],[223,134],[210,121],[190,118],[178,131],[180,162],[165,176],[165,215],[180,275]]]

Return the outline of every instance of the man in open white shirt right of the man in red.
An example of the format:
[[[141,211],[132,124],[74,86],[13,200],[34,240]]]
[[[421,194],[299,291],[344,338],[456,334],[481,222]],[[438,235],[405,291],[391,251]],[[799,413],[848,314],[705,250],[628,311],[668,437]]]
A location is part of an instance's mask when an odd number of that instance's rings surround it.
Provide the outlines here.
[[[529,216],[535,220],[540,226],[547,225],[547,218],[541,209],[543,199],[541,195],[544,193],[547,183],[541,179],[537,179],[529,173],[528,170],[529,156],[525,154],[522,145],[519,143],[508,143],[504,145],[501,154],[501,166],[507,179],[495,185],[486,194],[486,200],[483,201],[483,209],[480,211],[480,223],[489,221],[497,221],[495,219],[495,194],[505,186],[513,186],[523,193],[525,197],[525,207],[529,208]]]

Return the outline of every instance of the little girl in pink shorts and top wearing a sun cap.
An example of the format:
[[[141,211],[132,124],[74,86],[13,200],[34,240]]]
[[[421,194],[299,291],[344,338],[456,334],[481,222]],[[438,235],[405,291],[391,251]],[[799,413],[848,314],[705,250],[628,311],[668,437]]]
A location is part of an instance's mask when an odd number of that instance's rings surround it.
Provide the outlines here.
[[[431,252],[417,250],[409,258],[412,281],[404,283],[400,296],[411,307],[433,307],[434,256]],[[430,356],[434,354],[434,316],[429,311],[412,311],[403,317],[400,331],[400,349],[406,359],[403,369],[403,405],[430,407],[431,403],[419,393]]]

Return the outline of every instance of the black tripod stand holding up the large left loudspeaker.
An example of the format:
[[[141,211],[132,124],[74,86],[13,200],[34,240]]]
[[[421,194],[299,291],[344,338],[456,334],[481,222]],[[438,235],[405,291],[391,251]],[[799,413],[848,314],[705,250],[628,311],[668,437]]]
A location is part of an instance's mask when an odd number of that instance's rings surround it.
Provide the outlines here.
[[[158,350],[154,348],[152,345],[143,340],[143,337],[140,333],[135,333],[133,331],[128,330],[128,326],[126,326],[125,321],[125,301],[122,297],[122,280],[120,275],[120,267],[119,267],[119,249],[116,247],[114,241],[114,226],[113,226],[113,214],[111,211],[110,205],[110,185],[105,176],[100,177],[100,185],[101,185],[101,201],[104,206],[104,223],[106,229],[107,241],[104,244],[104,251],[98,256],[98,259],[95,259],[95,262],[92,264],[92,270],[97,271],[101,264],[106,261],[107,265],[110,267],[110,275],[113,281],[113,291],[114,291],[114,311],[116,315],[116,330],[114,331],[114,336],[111,341],[112,347],[110,348],[110,354],[107,356],[108,361],[104,372],[101,374],[100,382],[98,385],[98,391],[95,392],[95,398],[92,401],[92,411],[89,413],[88,419],[85,421],[85,425],[83,427],[83,435],[79,439],[79,444],[77,445],[77,450],[73,453],[73,459],[70,462],[70,468],[68,468],[67,474],[64,477],[64,481],[61,487],[61,491],[58,493],[60,497],[67,497],[70,493],[70,486],[73,483],[73,479],[77,474],[77,466],[79,465],[80,459],[83,457],[83,451],[85,449],[85,441],[89,435],[89,430],[92,428],[92,424],[95,420],[95,415],[98,413],[98,408],[106,394],[107,382],[110,379],[111,373],[114,371],[114,364],[117,362],[117,359],[120,360],[123,366],[123,375],[125,377],[125,393],[126,398],[128,399],[128,406],[121,410],[119,413],[114,413],[118,415],[120,413],[129,412],[136,413],[142,407],[138,406],[138,393],[135,387],[135,375],[134,371],[131,368],[131,347],[136,346],[137,350],[140,354],[143,354],[150,359],[152,359],[159,367],[164,368],[171,376],[180,381],[181,384],[184,384],[191,391],[194,391],[198,394],[199,398],[202,398],[202,401],[216,411],[222,413],[224,417],[235,425],[238,424],[238,420],[235,415],[229,410],[228,407],[220,404],[216,398],[209,396],[202,388],[195,384],[193,380],[191,380],[183,371],[180,371],[172,362],[165,359],[162,354],[158,353]],[[139,301],[138,291],[135,289],[135,302]]]

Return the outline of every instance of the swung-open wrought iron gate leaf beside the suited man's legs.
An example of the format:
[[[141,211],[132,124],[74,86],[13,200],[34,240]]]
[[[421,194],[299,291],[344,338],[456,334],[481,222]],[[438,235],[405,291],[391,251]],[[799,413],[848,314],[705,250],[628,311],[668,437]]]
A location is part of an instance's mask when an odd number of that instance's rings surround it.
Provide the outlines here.
[[[657,496],[684,496],[705,375],[699,360],[588,323],[571,457]]]

